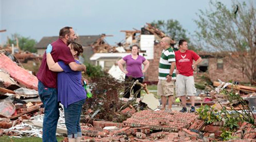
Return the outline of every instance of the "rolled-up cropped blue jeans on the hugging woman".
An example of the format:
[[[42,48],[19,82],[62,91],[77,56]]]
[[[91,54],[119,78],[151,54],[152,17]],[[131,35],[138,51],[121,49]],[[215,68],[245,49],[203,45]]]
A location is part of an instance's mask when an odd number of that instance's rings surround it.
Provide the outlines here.
[[[64,106],[65,124],[69,138],[77,138],[82,136],[80,128],[80,116],[84,103],[85,99],[70,104],[67,106],[67,108]]]

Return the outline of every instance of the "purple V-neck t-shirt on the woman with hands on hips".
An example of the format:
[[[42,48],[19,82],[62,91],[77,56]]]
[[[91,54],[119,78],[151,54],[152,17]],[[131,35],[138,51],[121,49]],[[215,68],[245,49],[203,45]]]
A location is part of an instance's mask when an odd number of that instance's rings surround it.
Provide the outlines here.
[[[134,60],[131,55],[123,57],[126,62],[126,70],[128,74],[126,76],[132,76],[133,78],[140,78],[143,76],[141,71],[141,65],[146,60],[143,56],[139,55],[136,60]]]

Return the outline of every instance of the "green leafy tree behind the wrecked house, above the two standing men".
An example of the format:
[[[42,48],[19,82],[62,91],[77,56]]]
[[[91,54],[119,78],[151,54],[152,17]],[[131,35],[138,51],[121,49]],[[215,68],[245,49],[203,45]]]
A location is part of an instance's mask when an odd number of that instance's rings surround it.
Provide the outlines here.
[[[182,28],[179,21],[173,20],[173,19],[169,19],[166,22],[165,20],[158,20],[158,21],[154,20],[153,22],[151,22],[151,25],[165,32],[167,36],[169,36],[171,39],[175,40],[176,42],[179,42],[180,39],[185,39],[189,43],[189,49],[194,51],[200,50],[190,42],[190,38],[187,36],[187,30]]]

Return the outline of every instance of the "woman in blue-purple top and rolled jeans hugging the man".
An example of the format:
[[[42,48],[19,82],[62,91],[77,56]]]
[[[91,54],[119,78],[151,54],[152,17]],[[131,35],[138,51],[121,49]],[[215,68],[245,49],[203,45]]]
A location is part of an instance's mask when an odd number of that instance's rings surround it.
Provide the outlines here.
[[[48,45],[47,50],[51,48]],[[72,42],[70,51],[79,64],[78,56],[83,53],[82,45]],[[80,116],[82,106],[85,103],[86,92],[81,83],[82,73],[73,71],[63,61],[54,62],[51,51],[46,52],[47,65],[51,71],[59,72],[57,79],[58,101],[64,105],[65,124],[70,142],[80,141],[82,133],[80,128]]]

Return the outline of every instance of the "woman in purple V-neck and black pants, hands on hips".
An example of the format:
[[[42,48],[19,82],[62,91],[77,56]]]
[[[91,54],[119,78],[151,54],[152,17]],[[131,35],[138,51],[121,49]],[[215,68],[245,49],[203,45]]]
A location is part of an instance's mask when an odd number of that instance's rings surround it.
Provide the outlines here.
[[[126,70],[124,70],[123,65],[126,63]],[[123,59],[118,61],[118,66],[122,72],[125,73],[125,82],[139,80],[140,83],[143,82],[143,73],[146,72],[149,67],[149,61],[143,56],[139,55],[139,46],[133,45],[131,47],[131,55],[123,57]],[[144,64],[144,69],[141,66]],[[129,84],[130,85],[130,84]],[[133,93],[141,89],[140,85],[135,85],[133,87]],[[130,88],[125,87],[124,101],[128,101],[130,97]],[[136,102],[140,101],[141,92],[138,93]]]

